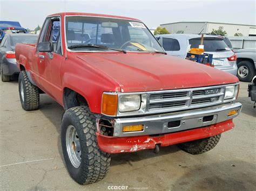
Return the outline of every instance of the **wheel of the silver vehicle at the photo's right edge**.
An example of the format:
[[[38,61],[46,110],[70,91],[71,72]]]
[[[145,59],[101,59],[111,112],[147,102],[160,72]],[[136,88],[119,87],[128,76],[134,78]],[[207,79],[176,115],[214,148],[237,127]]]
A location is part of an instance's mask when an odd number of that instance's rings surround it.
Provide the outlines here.
[[[255,75],[255,67],[249,61],[243,60],[237,64],[237,76],[240,81],[251,82]]]

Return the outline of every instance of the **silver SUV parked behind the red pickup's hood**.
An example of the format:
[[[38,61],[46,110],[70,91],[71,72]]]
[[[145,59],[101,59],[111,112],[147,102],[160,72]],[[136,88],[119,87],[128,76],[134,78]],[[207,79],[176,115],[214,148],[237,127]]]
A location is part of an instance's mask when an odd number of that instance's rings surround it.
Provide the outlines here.
[[[201,41],[199,34],[161,34],[156,36],[159,43],[163,46],[167,54],[186,58],[187,47],[198,48]],[[233,75],[237,75],[236,56],[227,46],[221,36],[204,36],[205,53],[213,54],[213,65]]]

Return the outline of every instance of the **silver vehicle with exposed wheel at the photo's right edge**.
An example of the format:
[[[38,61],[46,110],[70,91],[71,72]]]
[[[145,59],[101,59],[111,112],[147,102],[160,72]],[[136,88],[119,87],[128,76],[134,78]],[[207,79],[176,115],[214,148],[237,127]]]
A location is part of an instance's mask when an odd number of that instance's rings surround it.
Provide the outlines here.
[[[256,48],[244,48],[234,51],[237,55],[237,76],[240,81],[251,82],[256,72]]]

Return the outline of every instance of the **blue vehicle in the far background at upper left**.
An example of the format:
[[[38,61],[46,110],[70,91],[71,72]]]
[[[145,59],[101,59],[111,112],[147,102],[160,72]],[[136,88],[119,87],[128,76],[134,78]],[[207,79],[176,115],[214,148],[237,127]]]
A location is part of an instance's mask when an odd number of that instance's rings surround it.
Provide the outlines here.
[[[25,28],[15,21],[4,21],[0,20],[0,43],[5,33],[28,33]]]

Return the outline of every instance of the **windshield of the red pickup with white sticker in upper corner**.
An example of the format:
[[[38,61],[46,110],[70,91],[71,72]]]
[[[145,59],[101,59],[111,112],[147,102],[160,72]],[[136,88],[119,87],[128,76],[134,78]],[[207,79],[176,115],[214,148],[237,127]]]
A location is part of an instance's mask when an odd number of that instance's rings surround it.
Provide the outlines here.
[[[66,41],[74,45],[100,45],[124,51],[159,51],[152,33],[143,23],[131,20],[100,17],[67,17]],[[113,51],[91,46],[80,46],[72,51]]]

